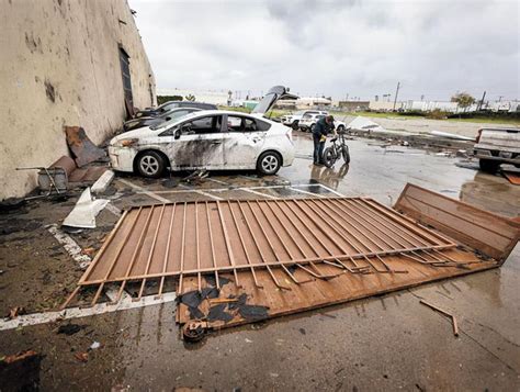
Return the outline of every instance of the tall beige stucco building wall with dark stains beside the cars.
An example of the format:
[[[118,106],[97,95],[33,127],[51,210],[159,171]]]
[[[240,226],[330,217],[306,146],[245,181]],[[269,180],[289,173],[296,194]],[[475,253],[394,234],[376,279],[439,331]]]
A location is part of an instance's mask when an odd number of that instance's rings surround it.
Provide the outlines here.
[[[134,105],[155,80],[125,0],[0,0],[0,200],[36,187],[34,171],[68,155],[64,125],[97,144],[125,119],[118,44],[129,55]],[[150,83],[152,97],[150,97]]]

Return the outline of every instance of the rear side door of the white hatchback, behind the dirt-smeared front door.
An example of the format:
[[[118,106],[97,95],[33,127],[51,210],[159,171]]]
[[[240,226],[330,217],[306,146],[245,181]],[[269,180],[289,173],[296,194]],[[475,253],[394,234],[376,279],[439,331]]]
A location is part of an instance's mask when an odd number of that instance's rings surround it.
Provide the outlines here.
[[[259,119],[227,114],[223,133],[226,169],[253,169],[268,128],[269,124]]]

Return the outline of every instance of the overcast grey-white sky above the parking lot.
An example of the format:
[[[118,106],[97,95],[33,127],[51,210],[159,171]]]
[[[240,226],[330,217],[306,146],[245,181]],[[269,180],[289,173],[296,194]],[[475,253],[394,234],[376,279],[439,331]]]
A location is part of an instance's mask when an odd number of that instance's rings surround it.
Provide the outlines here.
[[[520,1],[129,0],[157,88],[520,98]],[[245,98],[242,96],[242,98]]]

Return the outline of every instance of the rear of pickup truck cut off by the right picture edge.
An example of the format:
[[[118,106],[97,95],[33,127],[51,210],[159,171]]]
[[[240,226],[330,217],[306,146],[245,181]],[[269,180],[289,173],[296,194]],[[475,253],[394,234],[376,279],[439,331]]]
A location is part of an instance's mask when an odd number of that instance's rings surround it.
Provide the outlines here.
[[[520,128],[483,128],[478,131],[473,155],[481,169],[495,172],[501,164],[520,168]]]

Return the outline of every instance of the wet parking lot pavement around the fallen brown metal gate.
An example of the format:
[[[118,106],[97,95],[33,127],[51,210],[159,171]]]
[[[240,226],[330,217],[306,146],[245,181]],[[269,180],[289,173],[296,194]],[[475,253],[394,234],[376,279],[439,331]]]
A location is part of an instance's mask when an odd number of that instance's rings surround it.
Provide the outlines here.
[[[520,187],[457,167],[460,158],[359,138],[348,141],[351,164],[328,169],[312,165],[308,135],[296,134],[295,144],[297,158],[279,176],[215,172],[200,183],[184,183],[182,176],[120,176],[105,197],[120,210],[161,199],[336,192],[392,205],[412,182],[495,213],[520,215]],[[75,200],[34,202],[0,216],[4,314],[13,306],[30,313],[52,310],[72,290],[82,272],[45,225],[61,222]],[[83,249],[98,249],[116,212],[102,211],[95,229],[70,237]],[[519,390],[519,287],[517,246],[500,269],[230,328],[195,345],[180,339],[170,302],[2,331],[0,357],[25,349],[43,354],[43,390]],[[461,336],[455,338],[450,322],[419,299],[456,315]],[[70,336],[58,334],[69,323],[84,327]],[[89,349],[94,341],[101,347]]]

